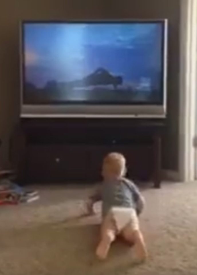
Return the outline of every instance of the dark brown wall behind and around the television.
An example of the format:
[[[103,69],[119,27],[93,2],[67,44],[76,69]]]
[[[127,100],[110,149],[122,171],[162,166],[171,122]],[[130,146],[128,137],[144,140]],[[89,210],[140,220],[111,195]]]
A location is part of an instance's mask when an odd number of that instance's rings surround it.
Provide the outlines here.
[[[9,162],[9,138],[19,120],[21,19],[168,18],[168,119],[163,168],[178,167],[180,0],[6,0],[0,9],[0,160]]]

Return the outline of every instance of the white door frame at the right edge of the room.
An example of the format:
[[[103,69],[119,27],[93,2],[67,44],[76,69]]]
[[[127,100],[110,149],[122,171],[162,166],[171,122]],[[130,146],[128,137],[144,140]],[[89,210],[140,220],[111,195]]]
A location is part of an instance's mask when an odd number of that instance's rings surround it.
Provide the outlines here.
[[[197,0],[181,0],[179,178],[195,179]]]

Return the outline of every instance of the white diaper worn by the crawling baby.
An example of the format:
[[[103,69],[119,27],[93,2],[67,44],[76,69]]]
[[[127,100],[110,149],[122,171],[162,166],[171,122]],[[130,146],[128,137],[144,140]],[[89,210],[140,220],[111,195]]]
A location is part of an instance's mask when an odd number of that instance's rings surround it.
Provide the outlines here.
[[[135,209],[126,207],[112,207],[110,210],[117,230],[120,232],[127,224],[131,224],[133,230],[139,229],[139,222]]]

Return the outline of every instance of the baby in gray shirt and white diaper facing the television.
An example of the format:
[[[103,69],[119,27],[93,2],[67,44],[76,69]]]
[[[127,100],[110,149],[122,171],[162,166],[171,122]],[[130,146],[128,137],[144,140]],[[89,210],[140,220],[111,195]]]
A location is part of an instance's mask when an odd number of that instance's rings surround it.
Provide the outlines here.
[[[102,200],[101,239],[96,255],[104,260],[111,243],[120,235],[131,245],[134,244],[135,260],[143,261],[147,251],[139,228],[137,215],[144,207],[144,199],[138,188],[124,178],[126,160],[120,153],[110,153],[103,161],[103,184],[88,199],[88,212],[93,213],[95,202]]]

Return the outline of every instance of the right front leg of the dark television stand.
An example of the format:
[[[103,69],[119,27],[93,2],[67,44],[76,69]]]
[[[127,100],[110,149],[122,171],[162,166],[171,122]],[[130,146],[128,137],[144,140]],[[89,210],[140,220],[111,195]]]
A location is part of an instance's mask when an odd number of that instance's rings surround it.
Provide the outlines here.
[[[161,137],[154,137],[154,188],[161,188]]]

